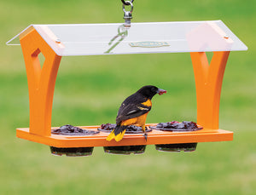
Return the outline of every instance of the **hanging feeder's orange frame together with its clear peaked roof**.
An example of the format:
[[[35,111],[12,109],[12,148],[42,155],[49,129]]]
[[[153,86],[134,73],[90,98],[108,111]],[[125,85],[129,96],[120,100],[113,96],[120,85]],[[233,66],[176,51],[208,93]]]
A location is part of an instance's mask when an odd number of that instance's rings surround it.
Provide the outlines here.
[[[224,69],[230,51],[247,50],[221,20],[124,24],[31,25],[19,37],[29,90],[29,128],[16,129],[19,138],[56,148],[145,146],[232,141],[233,132],[219,129],[218,114]],[[206,52],[213,52],[211,62]],[[41,68],[38,54],[44,54]],[[55,79],[62,56],[103,54],[190,53],[197,100],[197,123],[203,129],[166,132],[153,129],[143,135],[125,135],[106,141],[108,133],[71,136],[51,133]],[[144,65],[140,65],[144,66]],[[147,124],[150,126],[154,124]],[[85,124],[81,128],[97,130]]]

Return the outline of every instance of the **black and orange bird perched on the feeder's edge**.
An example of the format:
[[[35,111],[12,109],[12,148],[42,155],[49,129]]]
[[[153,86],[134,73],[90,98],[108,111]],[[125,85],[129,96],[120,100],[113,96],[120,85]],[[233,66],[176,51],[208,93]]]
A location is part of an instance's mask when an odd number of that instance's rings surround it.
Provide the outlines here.
[[[131,124],[142,127],[145,139],[147,140],[147,134],[145,133],[145,123],[148,116],[148,112],[151,110],[151,99],[154,95],[165,94],[166,90],[159,89],[153,85],[144,86],[138,89],[133,95],[127,97],[121,106],[116,117],[116,127],[108,135],[107,141],[121,141],[125,135],[127,127]]]

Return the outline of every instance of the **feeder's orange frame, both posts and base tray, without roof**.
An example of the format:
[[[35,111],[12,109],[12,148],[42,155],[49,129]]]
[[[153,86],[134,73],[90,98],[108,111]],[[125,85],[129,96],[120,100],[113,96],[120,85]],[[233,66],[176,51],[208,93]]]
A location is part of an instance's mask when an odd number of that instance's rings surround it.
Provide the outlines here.
[[[55,79],[61,56],[55,54],[34,28],[20,36],[20,45],[26,64],[30,124],[29,128],[17,129],[17,137],[56,147],[154,145],[233,140],[233,132],[218,129],[219,99],[229,51],[214,52],[210,66],[206,53],[190,53],[195,72],[197,123],[204,129],[183,133],[153,130],[148,133],[148,141],[145,141],[143,135],[125,135],[122,141],[116,142],[106,141],[108,133],[103,132],[91,136],[51,135]],[[45,57],[43,68],[38,60],[40,53]],[[83,128],[97,129],[98,126],[84,126]]]

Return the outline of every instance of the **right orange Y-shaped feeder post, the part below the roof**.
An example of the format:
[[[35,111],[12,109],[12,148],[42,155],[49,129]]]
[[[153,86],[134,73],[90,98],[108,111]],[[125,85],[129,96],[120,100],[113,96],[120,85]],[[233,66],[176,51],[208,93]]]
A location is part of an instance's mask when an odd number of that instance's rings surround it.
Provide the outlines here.
[[[209,65],[205,52],[192,52],[197,98],[197,123],[207,129],[218,129],[218,111],[225,66],[230,51],[213,52]]]

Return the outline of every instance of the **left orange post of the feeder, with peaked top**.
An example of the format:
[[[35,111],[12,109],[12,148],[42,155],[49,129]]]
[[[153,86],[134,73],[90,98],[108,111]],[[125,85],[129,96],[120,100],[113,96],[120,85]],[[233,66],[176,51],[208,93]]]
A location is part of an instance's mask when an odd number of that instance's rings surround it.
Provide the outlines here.
[[[49,136],[55,79],[61,56],[55,54],[34,28],[20,37],[20,45],[26,65],[29,91],[30,133]],[[42,68],[38,59],[40,53],[45,57]]]

